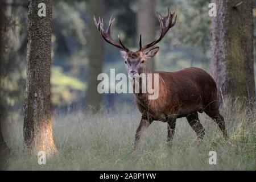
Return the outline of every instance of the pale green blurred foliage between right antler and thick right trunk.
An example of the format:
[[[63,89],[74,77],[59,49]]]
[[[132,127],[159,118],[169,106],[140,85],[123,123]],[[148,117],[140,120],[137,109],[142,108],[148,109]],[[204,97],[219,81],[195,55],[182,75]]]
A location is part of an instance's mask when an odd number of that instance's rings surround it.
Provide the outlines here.
[[[176,25],[168,34],[173,45],[182,44],[183,46],[199,48],[209,46],[210,17],[208,5],[209,1],[207,0],[162,0],[159,2],[160,12],[164,13],[167,11],[167,7],[170,7],[170,10],[177,15]]]

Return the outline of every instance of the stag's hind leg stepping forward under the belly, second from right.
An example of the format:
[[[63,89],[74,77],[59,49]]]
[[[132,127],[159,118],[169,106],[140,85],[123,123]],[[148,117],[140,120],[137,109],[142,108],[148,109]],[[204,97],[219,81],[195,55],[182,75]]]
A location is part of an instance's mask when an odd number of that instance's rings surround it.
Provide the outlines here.
[[[204,139],[205,130],[198,118],[198,113],[191,113],[187,115],[187,120],[192,129],[196,132],[197,140],[201,142]]]

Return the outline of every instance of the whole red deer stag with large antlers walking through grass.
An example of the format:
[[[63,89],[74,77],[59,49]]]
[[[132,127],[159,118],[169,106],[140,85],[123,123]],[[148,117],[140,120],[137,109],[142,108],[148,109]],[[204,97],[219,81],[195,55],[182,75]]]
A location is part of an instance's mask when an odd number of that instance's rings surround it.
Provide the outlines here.
[[[174,13],[175,14],[175,13]],[[114,19],[110,18],[107,30],[104,30],[103,19],[94,22],[101,33],[102,38],[113,46],[122,49],[121,56],[125,59],[125,65],[129,76],[141,75],[142,73],[152,73],[146,67],[147,58],[154,57],[159,51],[159,47],[151,48],[166,35],[168,30],[176,23],[174,14],[168,9],[167,16],[159,13],[160,36],[151,43],[142,46],[140,39],[139,51],[133,52],[127,48],[119,38],[119,43],[115,42],[110,35],[110,30]],[[167,24],[167,26],[166,26]],[[148,51],[146,51],[148,48]],[[135,134],[134,150],[138,146],[139,139],[143,132],[153,121],[168,123],[167,142],[172,143],[176,126],[176,119],[186,117],[189,125],[195,130],[197,139],[200,141],[205,135],[204,127],[201,125],[198,113],[203,111],[217,123],[225,138],[224,118],[220,115],[217,101],[216,83],[213,78],[200,68],[187,68],[177,72],[153,72],[159,75],[159,97],[156,100],[148,100],[148,93],[135,93],[135,102],[142,114],[141,122]]]

